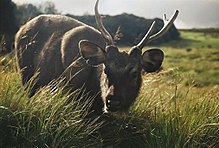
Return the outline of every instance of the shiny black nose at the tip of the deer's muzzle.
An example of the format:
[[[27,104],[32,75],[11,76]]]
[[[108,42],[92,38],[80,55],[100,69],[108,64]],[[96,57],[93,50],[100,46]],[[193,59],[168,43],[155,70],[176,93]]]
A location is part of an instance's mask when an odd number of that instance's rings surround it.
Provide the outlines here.
[[[119,100],[111,99],[111,97],[107,97],[106,106],[109,111],[116,112],[121,107],[121,102]]]

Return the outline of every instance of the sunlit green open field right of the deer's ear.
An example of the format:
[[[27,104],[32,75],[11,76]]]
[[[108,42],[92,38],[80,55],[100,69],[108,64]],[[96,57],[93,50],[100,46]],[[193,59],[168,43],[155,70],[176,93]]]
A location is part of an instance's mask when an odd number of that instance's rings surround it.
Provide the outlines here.
[[[212,30],[214,32],[212,32]],[[164,67],[175,67],[194,80],[196,86],[219,84],[219,32],[218,30],[181,31],[182,39],[164,45]],[[178,50],[174,50],[177,48]],[[175,52],[174,52],[175,51]],[[188,80],[187,80],[188,81]]]

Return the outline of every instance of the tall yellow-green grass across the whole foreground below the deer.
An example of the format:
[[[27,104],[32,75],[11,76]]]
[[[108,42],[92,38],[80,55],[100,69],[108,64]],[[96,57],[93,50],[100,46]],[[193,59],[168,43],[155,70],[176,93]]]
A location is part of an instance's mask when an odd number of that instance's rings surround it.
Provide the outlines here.
[[[69,101],[70,94],[51,84],[29,99],[18,74],[8,75],[0,82],[0,147],[216,147],[219,142],[219,87],[195,93],[175,71],[145,75],[128,113],[93,118],[86,118],[92,100],[86,94],[84,103]]]

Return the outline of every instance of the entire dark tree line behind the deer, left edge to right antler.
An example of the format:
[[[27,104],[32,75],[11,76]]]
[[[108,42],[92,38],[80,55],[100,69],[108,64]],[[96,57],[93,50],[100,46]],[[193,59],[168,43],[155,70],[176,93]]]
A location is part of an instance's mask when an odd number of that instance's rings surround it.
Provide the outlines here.
[[[21,25],[44,13],[57,14],[58,11],[52,2],[45,2],[38,6],[33,4],[16,6],[11,0],[0,0],[0,54],[11,51],[14,35]],[[67,14],[67,16],[96,27],[95,18],[92,15],[74,16]],[[156,25],[153,33],[159,31],[163,26],[161,19],[155,18],[154,20],[156,20]],[[116,16],[107,15],[104,17],[103,23],[107,30],[115,36],[117,44],[133,45],[139,42],[154,20],[124,13]],[[179,39],[179,32],[172,25],[163,37],[151,42],[151,44],[160,44],[176,39]]]

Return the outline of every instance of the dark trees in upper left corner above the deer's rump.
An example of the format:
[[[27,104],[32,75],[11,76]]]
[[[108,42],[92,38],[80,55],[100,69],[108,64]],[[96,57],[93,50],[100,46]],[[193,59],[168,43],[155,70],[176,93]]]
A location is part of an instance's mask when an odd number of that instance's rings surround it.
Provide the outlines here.
[[[0,55],[13,49],[14,36],[21,25],[43,13],[55,14],[58,11],[52,2],[35,6],[16,5],[12,0],[0,0]]]

